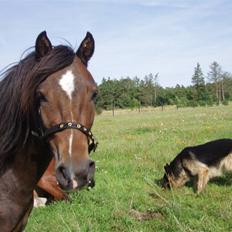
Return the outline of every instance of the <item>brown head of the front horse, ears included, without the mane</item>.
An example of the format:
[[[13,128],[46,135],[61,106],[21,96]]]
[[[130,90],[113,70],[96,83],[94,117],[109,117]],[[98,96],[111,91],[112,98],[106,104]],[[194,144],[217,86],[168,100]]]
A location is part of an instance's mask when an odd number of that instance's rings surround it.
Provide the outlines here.
[[[46,32],[35,44],[36,59],[53,48]],[[95,162],[90,159],[97,142],[91,132],[97,85],[87,70],[94,53],[94,38],[88,32],[70,65],[49,75],[37,88],[41,136],[50,144],[56,160],[56,177],[63,189],[94,186]]]

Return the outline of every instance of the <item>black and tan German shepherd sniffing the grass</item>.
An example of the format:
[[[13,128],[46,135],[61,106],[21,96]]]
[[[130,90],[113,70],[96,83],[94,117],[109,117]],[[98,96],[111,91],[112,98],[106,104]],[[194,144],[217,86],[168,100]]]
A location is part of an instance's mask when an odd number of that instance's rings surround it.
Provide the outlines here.
[[[232,171],[232,139],[186,147],[164,170],[164,188],[181,187],[193,180],[196,192],[200,193],[211,178]]]

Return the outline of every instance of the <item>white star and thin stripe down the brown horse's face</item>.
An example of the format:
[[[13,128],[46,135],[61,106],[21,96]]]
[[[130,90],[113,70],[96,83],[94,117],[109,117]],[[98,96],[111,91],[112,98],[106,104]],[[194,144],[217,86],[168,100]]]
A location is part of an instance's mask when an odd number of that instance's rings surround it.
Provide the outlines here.
[[[62,75],[59,85],[65,91],[67,96],[70,100],[70,113],[71,113],[71,121],[73,121],[73,112],[72,112],[72,93],[75,89],[74,84],[75,76],[73,75],[71,70],[68,70],[64,75]],[[73,141],[73,130],[70,130],[70,137],[69,137],[69,155],[72,155],[72,141]]]

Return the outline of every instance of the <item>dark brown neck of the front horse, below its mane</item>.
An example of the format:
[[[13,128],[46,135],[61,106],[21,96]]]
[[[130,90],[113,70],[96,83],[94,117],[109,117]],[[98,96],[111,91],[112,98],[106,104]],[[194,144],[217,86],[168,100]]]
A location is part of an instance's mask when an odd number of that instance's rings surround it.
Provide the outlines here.
[[[32,207],[33,189],[51,160],[48,147],[37,142],[17,153],[0,176],[0,228],[7,231],[15,228]]]

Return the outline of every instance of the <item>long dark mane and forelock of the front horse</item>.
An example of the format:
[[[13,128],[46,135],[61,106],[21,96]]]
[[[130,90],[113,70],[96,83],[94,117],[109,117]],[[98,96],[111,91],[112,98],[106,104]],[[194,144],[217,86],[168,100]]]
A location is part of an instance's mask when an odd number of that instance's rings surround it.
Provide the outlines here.
[[[70,47],[59,45],[40,60],[35,52],[30,53],[0,75],[0,168],[27,144],[38,86],[52,73],[69,66],[74,56]]]

